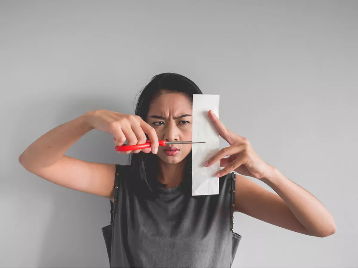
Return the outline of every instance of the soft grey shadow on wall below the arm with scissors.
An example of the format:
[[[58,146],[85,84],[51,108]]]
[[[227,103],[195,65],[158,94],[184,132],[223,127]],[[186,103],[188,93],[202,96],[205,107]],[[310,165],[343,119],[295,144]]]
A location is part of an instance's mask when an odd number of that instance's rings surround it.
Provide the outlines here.
[[[110,203],[68,189],[53,189],[52,211],[39,267],[108,267],[101,227],[110,221]]]

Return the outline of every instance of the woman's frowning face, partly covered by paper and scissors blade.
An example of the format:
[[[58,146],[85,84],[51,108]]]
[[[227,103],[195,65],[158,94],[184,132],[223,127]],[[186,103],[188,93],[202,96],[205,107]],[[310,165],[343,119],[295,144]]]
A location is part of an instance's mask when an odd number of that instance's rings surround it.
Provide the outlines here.
[[[146,121],[155,129],[159,140],[192,140],[192,111],[192,103],[187,96],[164,91],[151,103]],[[191,150],[192,144],[171,144],[160,146],[157,155],[165,163],[176,164]]]

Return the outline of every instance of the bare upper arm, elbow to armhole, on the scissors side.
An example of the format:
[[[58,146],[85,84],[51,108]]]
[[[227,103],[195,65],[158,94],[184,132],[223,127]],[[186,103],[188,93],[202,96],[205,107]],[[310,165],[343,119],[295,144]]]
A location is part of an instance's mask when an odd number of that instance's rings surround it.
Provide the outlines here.
[[[64,155],[55,164],[30,172],[49,182],[84,193],[112,198],[116,165],[92,163]]]

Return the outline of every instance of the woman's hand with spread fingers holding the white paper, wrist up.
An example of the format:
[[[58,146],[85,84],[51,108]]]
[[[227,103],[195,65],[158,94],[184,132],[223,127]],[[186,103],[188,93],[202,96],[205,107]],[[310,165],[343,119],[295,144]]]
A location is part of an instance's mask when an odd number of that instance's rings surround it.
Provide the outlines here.
[[[261,179],[272,170],[272,166],[258,156],[246,138],[228,130],[211,110],[209,111],[209,118],[212,120],[220,136],[231,145],[221,149],[205,162],[205,166],[209,167],[220,160],[220,167],[223,167],[223,169],[215,174],[216,177],[222,177],[235,171],[244,176]],[[228,158],[224,158],[227,156]]]

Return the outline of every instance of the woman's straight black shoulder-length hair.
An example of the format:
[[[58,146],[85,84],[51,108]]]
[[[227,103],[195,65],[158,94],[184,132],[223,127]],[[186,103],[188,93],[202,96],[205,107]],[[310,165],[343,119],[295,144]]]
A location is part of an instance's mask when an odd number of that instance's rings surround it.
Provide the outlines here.
[[[175,73],[158,74],[138,93],[140,95],[137,100],[135,114],[145,121],[151,102],[160,95],[162,90],[183,93],[190,101],[193,101],[193,94],[203,94],[192,80],[183,75]],[[192,179],[192,152],[189,153],[185,160],[184,184],[191,182]],[[157,179],[159,171],[158,157],[152,153],[131,154],[130,166],[132,180],[138,186],[136,188],[140,189],[142,194],[155,194],[158,185],[161,184]],[[191,185],[191,183],[188,185]]]

